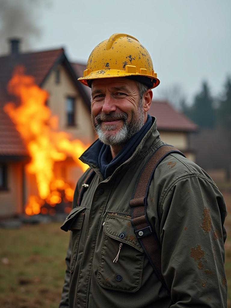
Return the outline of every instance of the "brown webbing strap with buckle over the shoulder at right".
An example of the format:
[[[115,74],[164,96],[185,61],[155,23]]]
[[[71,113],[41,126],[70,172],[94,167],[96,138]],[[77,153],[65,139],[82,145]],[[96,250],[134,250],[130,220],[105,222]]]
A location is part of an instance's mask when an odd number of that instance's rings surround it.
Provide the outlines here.
[[[148,221],[146,207],[148,189],[156,167],[171,153],[179,153],[184,156],[183,153],[171,145],[162,145],[152,154],[148,162],[140,171],[132,198],[129,202],[129,205],[131,206],[132,225],[136,236],[152,264],[157,277],[167,290],[168,287],[161,271],[161,245],[156,237],[155,231],[152,229],[152,226]]]

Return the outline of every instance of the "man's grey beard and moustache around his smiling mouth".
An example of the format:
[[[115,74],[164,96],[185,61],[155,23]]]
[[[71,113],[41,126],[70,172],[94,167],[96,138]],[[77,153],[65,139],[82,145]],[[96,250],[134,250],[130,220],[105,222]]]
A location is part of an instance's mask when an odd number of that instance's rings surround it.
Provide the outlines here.
[[[92,118],[92,117],[91,117]],[[116,133],[110,132],[115,130],[116,125],[104,125],[101,127],[101,121],[122,119],[124,124],[122,128]],[[126,143],[132,136],[134,136],[144,125],[144,111],[142,100],[139,102],[138,110],[135,113],[132,112],[132,119],[128,123],[128,116],[124,112],[111,112],[110,114],[99,114],[92,119],[95,132],[99,137],[99,140],[107,145],[120,145]]]

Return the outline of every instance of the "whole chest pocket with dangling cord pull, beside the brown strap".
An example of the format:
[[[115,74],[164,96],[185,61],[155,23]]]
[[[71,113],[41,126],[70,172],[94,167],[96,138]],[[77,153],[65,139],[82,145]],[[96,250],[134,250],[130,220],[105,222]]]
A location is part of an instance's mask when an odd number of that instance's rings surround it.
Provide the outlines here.
[[[108,214],[103,232],[97,281],[107,289],[137,291],[141,284],[144,250],[136,238],[130,218]]]

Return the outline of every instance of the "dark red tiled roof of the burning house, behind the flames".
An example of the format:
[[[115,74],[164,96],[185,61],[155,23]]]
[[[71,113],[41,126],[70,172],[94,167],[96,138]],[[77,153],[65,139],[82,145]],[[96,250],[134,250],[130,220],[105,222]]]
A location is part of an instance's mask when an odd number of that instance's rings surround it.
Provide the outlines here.
[[[7,102],[14,100],[14,98],[10,97],[7,93],[7,84],[12,77],[15,66],[23,65],[25,67],[25,74],[33,76],[35,83],[42,86],[52,68],[60,63],[66,66],[90,111],[90,96],[86,89],[83,88],[84,86],[77,81],[78,77],[83,74],[82,71],[80,73],[81,65],[79,65],[79,71],[76,71],[67,60],[63,48],[49,51],[10,54],[0,57],[0,156],[22,156],[27,154],[23,141],[14,124],[3,111],[3,106]],[[78,64],[75,63],[75,66],[78,67]]]

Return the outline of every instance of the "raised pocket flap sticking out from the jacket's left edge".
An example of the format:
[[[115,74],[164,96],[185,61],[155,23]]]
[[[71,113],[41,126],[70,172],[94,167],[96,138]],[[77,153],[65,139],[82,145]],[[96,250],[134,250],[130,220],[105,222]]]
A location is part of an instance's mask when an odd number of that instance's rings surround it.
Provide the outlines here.
[[[72,230],[72,229],[81,229],[83,224],[84,213],[81,213],[86,208],[83,206],[78,206],[71,210],[69,215],[67,215],[63,225],[61,225],[60,229],[64,231]]]

